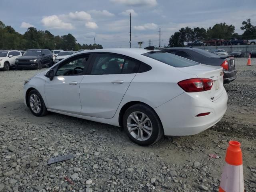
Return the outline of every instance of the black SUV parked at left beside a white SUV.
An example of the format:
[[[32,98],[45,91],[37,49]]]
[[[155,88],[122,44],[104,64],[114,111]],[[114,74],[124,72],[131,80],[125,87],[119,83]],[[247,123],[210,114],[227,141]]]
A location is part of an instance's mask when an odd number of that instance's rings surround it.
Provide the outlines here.
[[[48,49],[28,49],[23,56],[15,60],[16,69],[42,69],[53,64],[52,52]]]

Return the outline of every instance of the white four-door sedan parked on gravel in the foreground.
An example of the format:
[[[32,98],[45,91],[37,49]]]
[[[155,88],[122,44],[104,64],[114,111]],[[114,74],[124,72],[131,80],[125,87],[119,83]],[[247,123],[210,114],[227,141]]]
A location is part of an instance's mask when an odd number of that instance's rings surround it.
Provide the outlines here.
[[[138,48],[78,52],[24,83],[35,116],[50,111],[121,126],[144,146],[210,128],[227,100],[222,67]]]

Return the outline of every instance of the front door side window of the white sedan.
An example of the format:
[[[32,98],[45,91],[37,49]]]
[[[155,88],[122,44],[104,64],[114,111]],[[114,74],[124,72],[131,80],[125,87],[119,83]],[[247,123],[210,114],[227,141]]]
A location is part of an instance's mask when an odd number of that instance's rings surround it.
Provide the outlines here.
[[[56,76],[71,76],[71,75],[81,75],[84,70],[88,67],[89,54],[70,58],[64,61],[58,67]]]

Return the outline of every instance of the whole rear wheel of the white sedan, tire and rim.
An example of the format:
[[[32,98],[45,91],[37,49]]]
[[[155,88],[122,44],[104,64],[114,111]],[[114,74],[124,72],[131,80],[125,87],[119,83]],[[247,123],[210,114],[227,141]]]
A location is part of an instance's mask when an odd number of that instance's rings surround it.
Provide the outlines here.
[[[145,104],[136,104],[126,110],[123,127],[128,137],[142,146],[154,144],[164,134],[156,112]]]

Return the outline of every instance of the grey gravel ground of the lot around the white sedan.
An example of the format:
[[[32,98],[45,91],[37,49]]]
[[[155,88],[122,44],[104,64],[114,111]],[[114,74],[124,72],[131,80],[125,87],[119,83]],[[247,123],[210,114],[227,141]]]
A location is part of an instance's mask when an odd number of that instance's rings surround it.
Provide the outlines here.
[[[225,85],[228,110],[218,124],[150,147],[132,143],[114,126],[33,116],[22,84],[45,69],[1,71],[0,192],[217,192],[229,140],[242,144],[245,192],[256,192],[256,59],[252,66],[246,61],[236,58],[238,78]],[[70,153],[74,159],[47,164]]]

